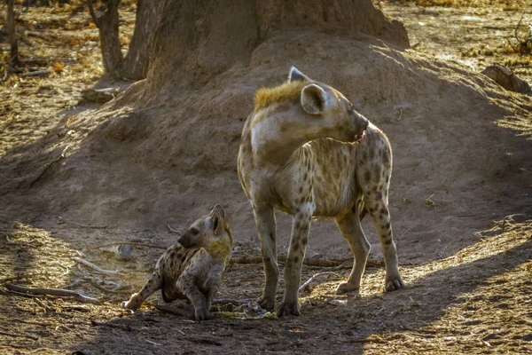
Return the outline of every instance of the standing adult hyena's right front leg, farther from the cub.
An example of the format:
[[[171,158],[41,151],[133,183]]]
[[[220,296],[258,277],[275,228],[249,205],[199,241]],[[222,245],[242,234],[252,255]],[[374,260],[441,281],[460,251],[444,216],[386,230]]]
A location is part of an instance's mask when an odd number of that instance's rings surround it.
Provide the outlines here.
[[[309,210],[300,211],[293,217],[292,236],[285,264],[285,299],[278,306],[279,317],[301,314],[298,291],[301,281],[301,266],[309,243],[310,217],[312,217],[312,211]]]

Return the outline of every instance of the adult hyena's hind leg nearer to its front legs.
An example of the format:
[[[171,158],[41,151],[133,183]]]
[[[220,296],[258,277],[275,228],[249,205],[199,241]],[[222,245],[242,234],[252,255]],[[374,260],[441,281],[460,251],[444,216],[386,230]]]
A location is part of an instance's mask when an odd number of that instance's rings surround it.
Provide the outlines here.
[[[360,211],[358,204],[353,207],[353,210],[343,216],[334,218],[341,235],[348,241],[349,248],[355,256],[353,262],[353,269],[349,275],[347,282],[340,283],[336,289],[336,293],[344,294],[360,289],[360,281],[364,274],[365,264],[370,255],[370,243],[367,241],[362,226],[360,225]]]

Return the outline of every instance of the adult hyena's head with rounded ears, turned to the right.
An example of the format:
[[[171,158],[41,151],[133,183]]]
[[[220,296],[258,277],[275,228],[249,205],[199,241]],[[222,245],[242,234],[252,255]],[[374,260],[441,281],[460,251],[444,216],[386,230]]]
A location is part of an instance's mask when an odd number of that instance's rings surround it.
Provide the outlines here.
[[[355,111],[340,91],[312,81],[295,67],[290,70],[288,80],[308,83],[301,91],[301,107],[307,114],[323,120],[319,126],[327,130],[330,138],[350,143],[364,138],[369,121]]]

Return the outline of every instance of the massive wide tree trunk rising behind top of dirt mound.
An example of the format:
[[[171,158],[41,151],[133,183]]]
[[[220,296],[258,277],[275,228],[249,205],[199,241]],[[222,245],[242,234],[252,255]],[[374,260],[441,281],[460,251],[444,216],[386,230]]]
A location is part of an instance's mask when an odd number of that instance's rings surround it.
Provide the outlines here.
[[[149,90],[167,83],[201,86],[248,63],[276,31],[309,29],[410,46],[403,23],[387,20],[372,0],[166,0],[153,38]]]

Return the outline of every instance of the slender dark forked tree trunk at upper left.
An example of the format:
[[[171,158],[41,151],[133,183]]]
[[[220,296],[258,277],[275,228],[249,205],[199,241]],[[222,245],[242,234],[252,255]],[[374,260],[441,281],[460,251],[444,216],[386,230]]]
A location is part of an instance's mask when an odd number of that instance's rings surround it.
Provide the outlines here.
[[[92,0],[88,0],[92,20],[98,27],[102,61],[106,73],[121,76],[122,54],[118,36],[118,5],[121,0],[108,0],[106,11],[97,15],[92,7]]]

